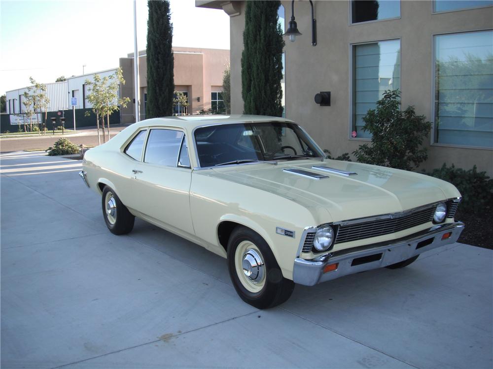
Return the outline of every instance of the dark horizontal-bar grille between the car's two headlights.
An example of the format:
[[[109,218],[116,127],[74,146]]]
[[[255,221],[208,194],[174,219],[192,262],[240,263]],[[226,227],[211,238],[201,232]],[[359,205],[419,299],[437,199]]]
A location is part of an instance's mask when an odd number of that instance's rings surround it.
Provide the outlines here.
[[[430,222],[433,219],[435,208],[436,205],[433,204],[399,217],[340,225],[335,243],[387,235]]]

